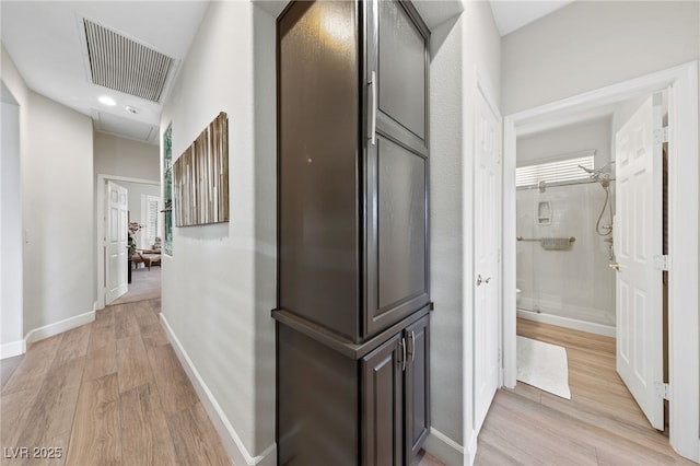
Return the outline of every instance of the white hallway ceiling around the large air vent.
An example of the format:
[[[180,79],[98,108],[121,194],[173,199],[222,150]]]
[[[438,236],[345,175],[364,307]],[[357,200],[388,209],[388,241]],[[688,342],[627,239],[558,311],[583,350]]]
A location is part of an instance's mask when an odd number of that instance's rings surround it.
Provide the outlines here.
[[[162,103],[91,82],[82,19],[150,46],[176,59],[176,75],[208,7],[207,1],[5,1],[2,43],[34,92],[59,102],[95,123],[95,129],[158,143]],[[97,102],[112,96],[117,105]],[[126,106],[136,107],[133,115]]]

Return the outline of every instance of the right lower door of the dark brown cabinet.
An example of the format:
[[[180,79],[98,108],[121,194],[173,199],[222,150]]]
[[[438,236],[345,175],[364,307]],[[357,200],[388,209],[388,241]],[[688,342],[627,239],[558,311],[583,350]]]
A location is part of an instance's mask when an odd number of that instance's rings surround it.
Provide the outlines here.
[[[430,333],[429,317],[405,330],[406,361],[406,457],[416,457],[430,432]]]

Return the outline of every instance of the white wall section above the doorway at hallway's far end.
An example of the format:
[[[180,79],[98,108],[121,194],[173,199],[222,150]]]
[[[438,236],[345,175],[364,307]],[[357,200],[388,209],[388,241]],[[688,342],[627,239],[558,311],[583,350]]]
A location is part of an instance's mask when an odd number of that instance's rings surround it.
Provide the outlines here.
[[[159,147],[95,131],[95,174],[161,179]]]

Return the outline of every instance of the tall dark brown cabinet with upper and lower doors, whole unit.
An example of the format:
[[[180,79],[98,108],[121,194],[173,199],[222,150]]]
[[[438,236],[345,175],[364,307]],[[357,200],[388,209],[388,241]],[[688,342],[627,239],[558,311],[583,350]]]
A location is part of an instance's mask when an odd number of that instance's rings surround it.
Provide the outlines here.
[[[428,36],[395,0],[278,20],[280,465],[408,465],[428,436]]]

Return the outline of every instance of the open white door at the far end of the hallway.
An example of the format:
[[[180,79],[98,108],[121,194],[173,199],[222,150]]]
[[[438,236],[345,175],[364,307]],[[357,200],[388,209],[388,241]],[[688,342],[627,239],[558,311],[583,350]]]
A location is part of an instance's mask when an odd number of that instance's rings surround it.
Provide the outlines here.
[[[107,182],[107,219],[105,225],[105,303],[109,304],[129,289],[128,275],[128,218],[129,193],[127,188]]]

